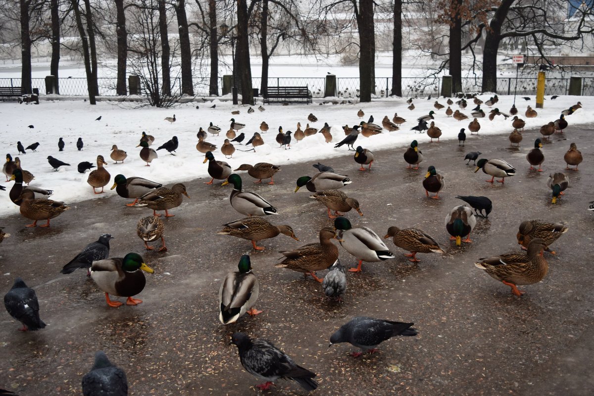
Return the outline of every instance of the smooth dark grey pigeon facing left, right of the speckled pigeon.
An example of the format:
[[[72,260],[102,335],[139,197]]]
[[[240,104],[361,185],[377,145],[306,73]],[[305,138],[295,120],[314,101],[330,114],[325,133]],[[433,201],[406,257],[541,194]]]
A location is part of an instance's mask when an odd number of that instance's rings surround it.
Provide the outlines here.
[[[330,337],[330,345],[338,343],[350,343],[360,348],[363,352],[353,352],[351,356],[361,356],[365,351],[374,353],[382,341],[386,341],[396,335],[414,336],[419,334],[414,323],[393,322],[384,319],[369,318],[367,316],[357,316],[350,322],[342,325]]]

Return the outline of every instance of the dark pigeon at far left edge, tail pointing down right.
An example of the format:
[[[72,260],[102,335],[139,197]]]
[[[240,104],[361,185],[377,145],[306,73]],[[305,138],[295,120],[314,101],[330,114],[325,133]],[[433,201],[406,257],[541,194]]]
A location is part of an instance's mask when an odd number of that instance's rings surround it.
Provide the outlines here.
[[[20,331],[36,331],[45,327],[39,318],[39,302],[35,290],[27,287],[21,278],[16,278],[12,289],[4,295],[4,306],[10,316],[23,324]]]

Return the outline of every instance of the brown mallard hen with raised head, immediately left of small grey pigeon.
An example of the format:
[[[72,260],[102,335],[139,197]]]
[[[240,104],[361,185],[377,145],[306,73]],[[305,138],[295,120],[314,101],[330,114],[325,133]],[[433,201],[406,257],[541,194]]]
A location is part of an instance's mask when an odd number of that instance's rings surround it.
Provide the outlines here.
[[[330,242],[330,239],[338,239],[332,227],[324,227],[320,230],[320,242],[308,243],[291,251],[281,251],[285,259],[276,268],[287,268],[289,270],[311,275],[312,278],[322,283],[324,280],[315,275],[315,271],[326,270],[338,259],[338,248]]]

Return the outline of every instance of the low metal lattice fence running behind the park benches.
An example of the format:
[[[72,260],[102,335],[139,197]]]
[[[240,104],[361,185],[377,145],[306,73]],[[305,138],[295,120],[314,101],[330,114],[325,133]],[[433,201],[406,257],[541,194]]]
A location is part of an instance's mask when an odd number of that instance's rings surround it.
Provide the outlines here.
[[[116,96],[116,78],[98,78],[99,95],[100,96]],[[547,78],[546,79],[546,95],[565,95],[569,90],[569,78]],[[31,83],[34,88],[39,88],[40,93],[45,92],[45,79],[33,78]],[[181,92],[181,78],[172,78],[172,91]],[[208,96],[208,85],[204,78],[195,79],[195,94],[197,96]],[[324,97],[324,88],[326,86],[326,78],[324,77],[274,77],[268,78],[268,86],[282,87],[287,85],[307,85],[313,97]],[[20,87],[20,78],[0,78],[0,87]],[[219,87],[222,87],[222,79]],[[252,78],[252,86],[254,88],[261,87],[261,78]],[[375,93],[374,97],[388,97],[392,87],[391,77],[375,78]],[[402,78],[402,96],[403,97],[424,97],[424,96],[439,96],[441,87],[441,78],[439,77],[403,77]],[[59,78],[59,89],[61,95],[69,96],[86,96],[87,80],[86,78]],[[462,90],[464,92],[480,92],[481,79],[480,78],[463,78]],[[536,78],[520,77],[505,77],[497,79],[497,93],[502,95],[535,95],[536,94]],[[356,99],[359,95],[359,78],[347,77],[336,78],[336,92],[337,96],[345,99]],[[594,77],[582,78],[582,96],[594,96]]]

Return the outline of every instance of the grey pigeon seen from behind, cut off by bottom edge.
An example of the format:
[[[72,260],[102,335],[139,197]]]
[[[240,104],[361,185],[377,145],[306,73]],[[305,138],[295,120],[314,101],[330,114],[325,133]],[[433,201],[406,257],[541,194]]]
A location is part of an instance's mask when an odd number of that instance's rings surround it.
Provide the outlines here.
[[[126,396],[126,373],[112,365],[103,351],[95,353],[95,363],[83,377],[83,396]]]

